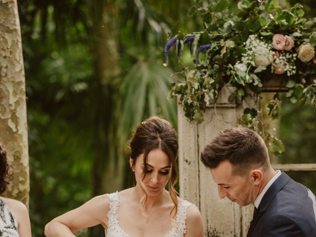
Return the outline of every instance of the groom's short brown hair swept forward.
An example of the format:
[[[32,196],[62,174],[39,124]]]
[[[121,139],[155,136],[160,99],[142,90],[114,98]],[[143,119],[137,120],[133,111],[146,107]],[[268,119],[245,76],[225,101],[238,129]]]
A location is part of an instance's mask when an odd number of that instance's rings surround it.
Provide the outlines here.
[[[262,137],[246,127],[231,127],[219,134],[204,148],[201,161],[208,168],[216,168],[229,161],[233,173],[243,176],[251,168],[266,170],[270,166],[268,149]]]

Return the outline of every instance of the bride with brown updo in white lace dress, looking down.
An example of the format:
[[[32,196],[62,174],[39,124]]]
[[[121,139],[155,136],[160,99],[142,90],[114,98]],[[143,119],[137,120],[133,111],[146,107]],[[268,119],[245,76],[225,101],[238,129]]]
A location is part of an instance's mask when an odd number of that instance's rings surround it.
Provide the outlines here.
[[[177,154],[177,136],[170,123],[158,117],[146,119],[130,140],[135,187],[94,197],[53,219],[45,226],[46,237],[74,237],[73,232],[98,224],[107,237],[202,237],[197,206],[179,198],[174,189]]]

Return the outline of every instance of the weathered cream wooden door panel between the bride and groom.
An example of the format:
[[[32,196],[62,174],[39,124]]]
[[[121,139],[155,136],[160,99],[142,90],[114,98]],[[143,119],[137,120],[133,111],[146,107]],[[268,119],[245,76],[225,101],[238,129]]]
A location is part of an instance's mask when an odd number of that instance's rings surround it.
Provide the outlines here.
[[[228,102],[235,89],[224,87],[216,104],[210,104],[204,121],[189,122],[178,104],[180,196],[195,203],[202,215],[205,237],[245,237],[252,220],[253,205],[239,207],[227,198],[220,199],[210,171],[200,161],[200,152],[220,130],[236,126],[245,108],[253,108],[254,100],[246,100],[236,108]]]

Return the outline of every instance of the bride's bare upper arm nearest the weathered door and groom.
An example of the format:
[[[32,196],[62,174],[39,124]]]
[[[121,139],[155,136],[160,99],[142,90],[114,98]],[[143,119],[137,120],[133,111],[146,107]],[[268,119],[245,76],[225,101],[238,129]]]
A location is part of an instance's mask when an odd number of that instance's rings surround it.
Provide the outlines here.
[[[187,211],[185,237],[203,237],[201,214],[196,205],[191,205]]]

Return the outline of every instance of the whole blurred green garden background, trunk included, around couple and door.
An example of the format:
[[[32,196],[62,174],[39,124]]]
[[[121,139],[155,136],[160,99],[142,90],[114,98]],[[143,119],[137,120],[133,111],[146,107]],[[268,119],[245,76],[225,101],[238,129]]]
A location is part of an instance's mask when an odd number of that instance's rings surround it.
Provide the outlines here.
[[[313,0],[300,2],[310,17],[316,16]],[[235,3],[232,0],[232,6]],[[179,71],[179,64],[173,56],[170,67],[162,67],[163,47],[168,34],[202,30],[199,16],[187,16],[192,4],[193,0],[18,1],[33,236],[43,236],[45,223],[90,197],[129,185],[126,142],[132,126],[151,115],[177,125],[176,103],[167,94],[170,75]],[[188,65],[189,53],[183,56]],[[286,151],[280,161],[315,163],[315,108],[283,104],[281,113],[280,137]],[[311,174],[291,175],[316,192],[314,173],[313,179]],[[100,236],[99,231],[79,236]]]

